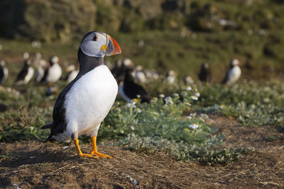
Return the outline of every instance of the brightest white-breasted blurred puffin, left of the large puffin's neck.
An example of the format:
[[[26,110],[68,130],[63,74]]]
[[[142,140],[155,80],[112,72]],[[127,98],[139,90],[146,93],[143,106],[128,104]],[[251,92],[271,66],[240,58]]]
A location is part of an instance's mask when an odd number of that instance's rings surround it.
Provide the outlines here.
[[[51,86],[56,81],[58,81],[62,75],[62,69],[58,64],[59,58],[57,56],[50,57],[49,67],[45,70],[45,74],[41,81],[48,83],[48,86]]]

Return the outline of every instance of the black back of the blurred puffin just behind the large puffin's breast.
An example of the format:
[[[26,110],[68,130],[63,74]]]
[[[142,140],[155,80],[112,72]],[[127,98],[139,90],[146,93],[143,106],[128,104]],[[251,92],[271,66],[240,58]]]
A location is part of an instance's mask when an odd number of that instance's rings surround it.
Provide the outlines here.
[[[144,103],[150,103],[151,102],[151,96],[148,95],[146,90],[136,84],[134,82],[133,76],[131,75],[131,69],[126,69],[125,76],[124,76],[124,93],[129,98],[137,98],[137,95],[141,96],[141,102]]]

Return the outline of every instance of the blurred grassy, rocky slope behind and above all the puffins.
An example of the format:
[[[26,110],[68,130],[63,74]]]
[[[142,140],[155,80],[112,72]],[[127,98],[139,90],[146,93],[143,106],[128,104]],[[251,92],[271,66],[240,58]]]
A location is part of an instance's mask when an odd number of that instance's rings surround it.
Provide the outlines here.
[[[25,51],[77,62],[84,33],[101,30],[135,64],[195,81],[202,62],[222,81],[229,60],[241,60],[242,79],[282,79],[284,1],[281,0],[9,0],[0,2],[0,59],[18,71]],[[42,47],[31,46],[38,40]],[[143,44],[143,45],[141,45]]]

